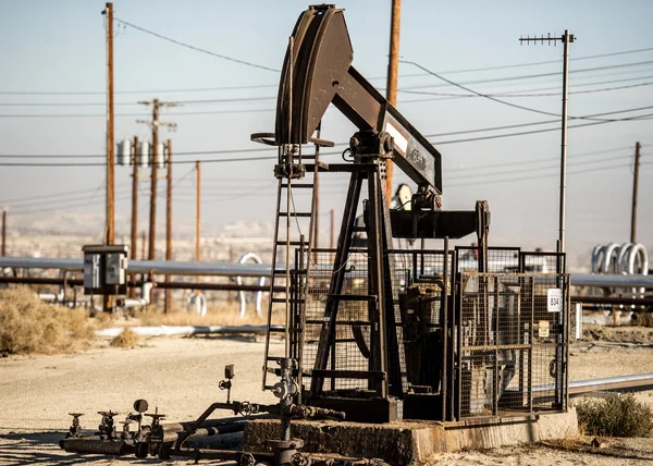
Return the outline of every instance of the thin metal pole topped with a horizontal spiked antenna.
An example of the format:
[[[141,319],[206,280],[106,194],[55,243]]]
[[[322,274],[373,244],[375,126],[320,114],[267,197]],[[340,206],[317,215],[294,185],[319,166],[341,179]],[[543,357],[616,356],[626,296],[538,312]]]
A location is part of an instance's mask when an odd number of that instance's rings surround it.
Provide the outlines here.
[[[563,54],[563,124],[560,135],[560,207],[559,207],[559,235],[557,241],[556,250],[558,253],[565,252],[565,197],[567,189],[567,96],[568,96],[568,76],[569,76],[569,44],[576,41],[574,34],[569,34],[569,29],[565,29],[565,34],[559,37],[520,37],[519,44],[538,42],[555,45],[558,41],[563,42],[564,54]]]

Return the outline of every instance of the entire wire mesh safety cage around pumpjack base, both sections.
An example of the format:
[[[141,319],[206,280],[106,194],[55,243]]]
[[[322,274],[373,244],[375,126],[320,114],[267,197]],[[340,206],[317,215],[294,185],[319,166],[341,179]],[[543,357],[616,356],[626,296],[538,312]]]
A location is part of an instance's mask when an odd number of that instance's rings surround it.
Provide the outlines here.
[[[473,254],[472,248],[460,249]],[[566,409],[568,275],[510,271],[528,267],[564,270],[564,254],[490,248],[489,262],[501,272],[478,273],[478,261],[475,270],[456,271],[461,265],[465,269],[465,260],[461,260],[457,248],[455,254],[448,253],[445,274],[442,250],[386,253],[386,267],[393,273],[389,278],[392,283],[385,286],[392,290],[397,344],[384,351],[390,359],[397,356],[393,348],[399,353],[404,393],[414,389],[416,393],[442,393],[447,419]],[[310,258],[306,249],[296,253],[288,338],[291,355],[301,365],[305,390],[311,388],[307,376],[317,367],[318,345],[324,338],[334,257],[333,249],[313,249]],[[378,308],[367,299],[368,260],[367,249],[353,248],[344,266],[340,294],[361,299],[337,303],[325,369],[338,375],[325,377],[325,393],[373,391],[371,377],[347,377],[345,372],[374,370],[371,329]],[[427,305],[416,305],[414,301],[423,299],[424,293],[430,293]]]

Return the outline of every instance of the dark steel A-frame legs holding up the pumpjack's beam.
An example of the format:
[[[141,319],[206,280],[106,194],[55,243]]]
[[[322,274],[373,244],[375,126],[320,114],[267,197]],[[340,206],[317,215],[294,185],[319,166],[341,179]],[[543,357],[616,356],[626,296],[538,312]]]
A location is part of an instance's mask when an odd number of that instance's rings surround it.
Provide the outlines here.
[[[341,234],[333,263],[333,277],[324,307],[324,323],[320,331],[320,341],[311,380],[310,396],[320,396],[324,390],[324,379],[332,379],[332,390],[335,388],[335,328],[338,306],[347,299],[359,299],[361,296],[343,294],[343,283],[347,259],[352,249],[352,235],[356,220],[357,206],[364,180],[367,180],[368,198],[365,201],[366,233],[368,254],[368,303],[370,320],[370,357],[369,373],[383,373],[386,377],[370,377],[369,389],[385,398],[389,395],[402,396],[404,382],[402,380],[401,348],[397,344],[398,316],[395,312],[392,295],[392,261],[387,250],[392,248],[392,228],[386,208],[386,194],[383,184],[383,158],[389,157],[387,142],[392,140],[386,133],[358,132],[352,137],[350,149],[355,155],[357,168],[352,172],[347,200],[341,224]],[[332,366],[329,369],[329,360]]]

